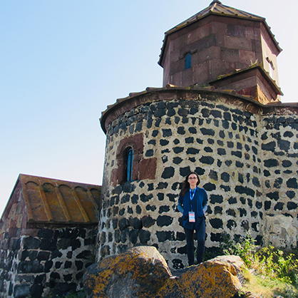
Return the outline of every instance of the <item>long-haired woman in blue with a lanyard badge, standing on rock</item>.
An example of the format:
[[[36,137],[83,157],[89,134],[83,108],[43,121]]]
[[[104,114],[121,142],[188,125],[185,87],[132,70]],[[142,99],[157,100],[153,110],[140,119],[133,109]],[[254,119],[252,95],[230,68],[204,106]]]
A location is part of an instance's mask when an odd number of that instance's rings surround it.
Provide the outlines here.
[[[202,262],[205,252],[205,212],[207,210],[207,192],[197,187],[200,178],[197,173],[190,173],[183,182],[179,195],[178,210],[183,213],[183,227],[185,230],[188,264],[195,262],[193,234],[197,232],[197,264]]]

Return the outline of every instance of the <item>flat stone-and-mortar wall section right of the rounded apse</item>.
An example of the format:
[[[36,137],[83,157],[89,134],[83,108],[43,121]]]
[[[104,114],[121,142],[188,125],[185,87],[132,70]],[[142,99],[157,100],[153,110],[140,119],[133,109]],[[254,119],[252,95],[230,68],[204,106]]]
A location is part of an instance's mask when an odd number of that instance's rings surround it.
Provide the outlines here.
[[[260,130],[264,202],[262,235],[264,242],[274,246],[297,247],[298,121],[289,108],[276,112],[268,109]]]

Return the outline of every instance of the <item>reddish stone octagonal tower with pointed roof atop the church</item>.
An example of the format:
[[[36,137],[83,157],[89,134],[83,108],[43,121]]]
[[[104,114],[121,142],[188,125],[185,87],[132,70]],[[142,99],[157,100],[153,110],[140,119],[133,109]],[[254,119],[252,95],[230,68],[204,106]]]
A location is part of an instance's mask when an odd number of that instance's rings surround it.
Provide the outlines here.
[[[165,32],[163,86],[215,86],[279,101],[277,56],[282,51],[264,18],[218,0]]]

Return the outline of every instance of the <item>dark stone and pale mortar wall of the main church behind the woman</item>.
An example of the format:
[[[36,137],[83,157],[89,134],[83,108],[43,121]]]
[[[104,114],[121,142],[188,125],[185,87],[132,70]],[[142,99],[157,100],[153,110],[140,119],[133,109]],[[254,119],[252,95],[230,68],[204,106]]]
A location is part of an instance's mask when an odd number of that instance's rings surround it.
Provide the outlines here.
[[[209,196],[208,248],[224,232],[296,246],[297,112],[294,105],[266,108],[245,96],[195,88],[148,89],[109,107],[101,118],[107,145],[99,257],[154,245],[170,267],[185,266],[177,202],[192,170]],[[134,146],[143,151],[133,160],[134,181],[121,184],[113,175],[123,167],[118,146],[133,138],[142,140]],[[154,173],[143,179],[149,169],[140,165],[153,158]]]

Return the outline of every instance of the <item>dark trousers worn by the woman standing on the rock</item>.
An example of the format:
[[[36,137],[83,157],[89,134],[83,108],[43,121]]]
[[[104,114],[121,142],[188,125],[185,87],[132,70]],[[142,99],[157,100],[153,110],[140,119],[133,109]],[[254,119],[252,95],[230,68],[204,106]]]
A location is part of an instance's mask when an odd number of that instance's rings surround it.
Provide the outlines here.
[[[195,245],[193,241],[194,232],[197,232],[197,264],[202,263],[202,258],[205,252],[205,235],[206,235],[206,224],[203,220],[202,224],[197,230],[189,230],[184,228],[186,237],[186,248],[187,248],[187,259],[189,266],[195,264]]]

